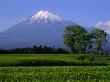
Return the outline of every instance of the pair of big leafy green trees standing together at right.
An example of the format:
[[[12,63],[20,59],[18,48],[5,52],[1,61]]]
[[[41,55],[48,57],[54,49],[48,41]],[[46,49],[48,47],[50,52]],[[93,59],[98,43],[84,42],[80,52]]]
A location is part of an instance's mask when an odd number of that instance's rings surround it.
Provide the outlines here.
[[[106,42],[107,33],[101,29],[93,29],[87,32],[82,26],[69,26],[64,31],[64,43],[71,53],[86,53],[87,49],[94,49],[102,54],[102,46]]]

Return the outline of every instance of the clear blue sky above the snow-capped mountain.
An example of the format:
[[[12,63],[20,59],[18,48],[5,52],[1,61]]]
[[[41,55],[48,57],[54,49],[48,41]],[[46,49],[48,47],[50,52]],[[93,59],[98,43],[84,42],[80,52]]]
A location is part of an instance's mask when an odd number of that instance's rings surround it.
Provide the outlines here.
[[[0,31],[40,10],[85,27],[105,24],[110,27],[110,0],[0,0]]]

